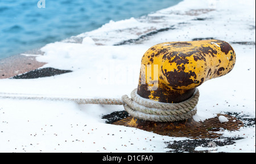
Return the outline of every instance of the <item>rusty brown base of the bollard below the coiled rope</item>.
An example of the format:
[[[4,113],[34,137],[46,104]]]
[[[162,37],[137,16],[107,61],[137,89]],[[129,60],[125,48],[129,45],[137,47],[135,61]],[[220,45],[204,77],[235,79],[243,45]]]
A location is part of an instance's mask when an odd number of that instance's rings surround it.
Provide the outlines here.
[[[229,121],[221,123],[218,120],[218,116],[220,115],[224,115],[229,119]],[[192,139],[217,138],[221,136],[221,134],[216,132],[223,130],[236,131],[243,127],[241,120],[227,114],[218,114],[215,118],[204,120],[204,122],[195,122],[195,120],[189,119],[181,122],[167,123],[137,120],[129,116],[112,124],[139,128],[141,130],[154,132],[159,135],[171,137],[189,137]]]

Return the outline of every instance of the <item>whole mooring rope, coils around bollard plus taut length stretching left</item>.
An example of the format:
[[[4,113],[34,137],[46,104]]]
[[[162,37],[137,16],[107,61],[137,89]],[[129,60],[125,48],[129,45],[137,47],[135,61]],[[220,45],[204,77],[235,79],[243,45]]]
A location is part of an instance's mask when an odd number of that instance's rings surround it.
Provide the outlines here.
[[[179,103],[164,103],[148,100],[137,94],[137,89],[131,92],[131,98],[123,95],[119,98],[61,98],[47,96],[32,96],[24,94],[0,93],[0,98],[13,98],[21,100],[51,100],[73,101],[78,104],[105,104],[123,105],[131,116],[153,122],[175,122],[192,118],[196,114],[196,105],[199,101],[199,90],[196,88],[193,96]]]

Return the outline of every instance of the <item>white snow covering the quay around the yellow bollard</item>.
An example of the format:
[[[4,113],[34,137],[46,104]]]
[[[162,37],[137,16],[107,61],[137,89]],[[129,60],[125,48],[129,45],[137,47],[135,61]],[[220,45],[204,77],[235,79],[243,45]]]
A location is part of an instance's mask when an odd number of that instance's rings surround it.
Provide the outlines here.
[[[136,44],[115,45],[170,27]],[[255,118],[253,0],[184,0],[142,18],[110,21],[94,31],[46,45],[41,49],[45,54],[36,58],[47,62],[43,67],[73,72],[39,79],[2,79],[0,92],[74,98],[130,96],[137,88],[141,58],[147,49],[160,42],[207,37],[229,42],[237,62],[229,74],[198,87],[200,97],[193,118],[204,121],[225,112]],[[165,141],[188,139],[114,126],[101,119],[121,110],[123,106],[0,98],[0,152],[167,152]],[[220,133],[244,139],[217,146],[214,152],[255,152],[255,125]]]

